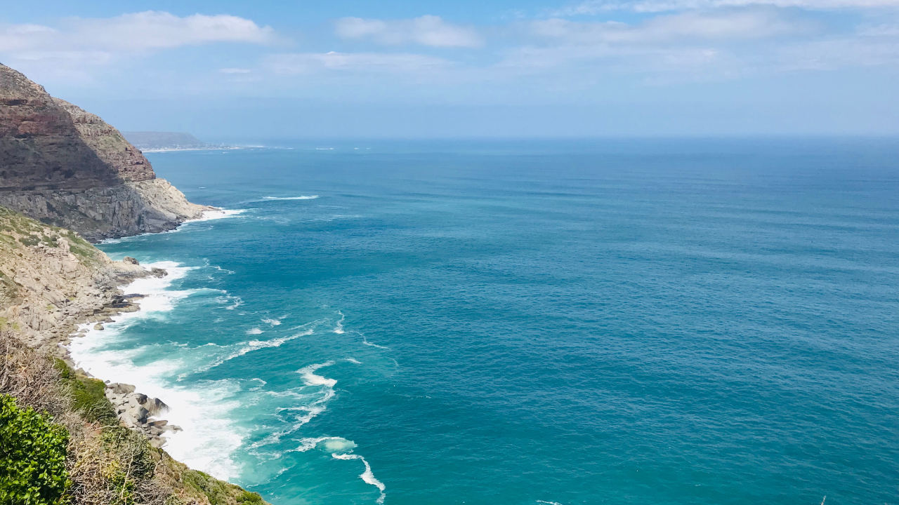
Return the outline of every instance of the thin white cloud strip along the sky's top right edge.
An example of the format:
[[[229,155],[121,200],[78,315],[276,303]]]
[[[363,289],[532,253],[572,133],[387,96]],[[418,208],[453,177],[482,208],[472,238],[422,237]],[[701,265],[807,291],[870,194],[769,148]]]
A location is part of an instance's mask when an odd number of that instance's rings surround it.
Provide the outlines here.
[[[807,10],[870,9],[899,7],[899,0],[587,0],[560,9],[553,15],[591,15],[622,10],[636,13],[662,13],[752,5],[798,7]]]

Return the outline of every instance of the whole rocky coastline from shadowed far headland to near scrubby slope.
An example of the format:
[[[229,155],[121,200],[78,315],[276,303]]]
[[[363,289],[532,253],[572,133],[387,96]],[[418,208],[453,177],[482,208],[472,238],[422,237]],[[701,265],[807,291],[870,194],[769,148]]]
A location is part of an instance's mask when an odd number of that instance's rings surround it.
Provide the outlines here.
[[[14,350],[0,354],[0,386],[8,376],[24,381],[4,394],[42,412],[52,403],[55,421],[67,423],[58,426],[77,439],[68,447],[68,471],[77,492],[87,493],[75,505],[119,503],[123,492],[96,501],[117,479],[133,486],[139,479],[144,487],[129,489],[150,500],[141,503],[265,503],[174,461],[162,447],[166,433],[181,429],[161,419],[165,402],[92,377],[68,350],[74,339],[89,338],[88,328],[102,331],[117,315],[140,310],[142,296],[122,287],[167,275],[133,258],[112,261],[92,243],[174,230],[215,210],[157,178],[119,130],[0,64],[0,343]],[[55,403],[21,397],[31,373],[42,374]],[[130,474],[133,465],[146,472]]]

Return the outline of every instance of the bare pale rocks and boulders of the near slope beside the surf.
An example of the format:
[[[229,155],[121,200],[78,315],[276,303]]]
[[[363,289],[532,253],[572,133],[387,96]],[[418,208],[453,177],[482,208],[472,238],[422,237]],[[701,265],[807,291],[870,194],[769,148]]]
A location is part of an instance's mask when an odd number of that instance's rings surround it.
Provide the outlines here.
[[[12,328],[32,349],[62,359],[77,374],[93,377],[77,368],[68,344],[85,338],[88,328],[103,330],[113,317],[140,310],[143,296],[121,288],[167,272],[142,267],[134,258],[111,261],[79,235],[5,208],[0,208],[0,228],[0,326]],[[121,425],[143,433],[153,447],[165,445],[166,432],[181,430],[159,419],[168,411],[162,400],[133,385],[104,383]]]

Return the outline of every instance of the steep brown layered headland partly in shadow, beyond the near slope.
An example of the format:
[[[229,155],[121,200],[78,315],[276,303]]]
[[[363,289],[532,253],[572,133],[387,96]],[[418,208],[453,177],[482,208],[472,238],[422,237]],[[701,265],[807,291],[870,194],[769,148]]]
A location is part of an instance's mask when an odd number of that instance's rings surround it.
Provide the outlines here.
[[[0,64],[0,205],[85,239],[171,230],[192,204],[116,128]]]

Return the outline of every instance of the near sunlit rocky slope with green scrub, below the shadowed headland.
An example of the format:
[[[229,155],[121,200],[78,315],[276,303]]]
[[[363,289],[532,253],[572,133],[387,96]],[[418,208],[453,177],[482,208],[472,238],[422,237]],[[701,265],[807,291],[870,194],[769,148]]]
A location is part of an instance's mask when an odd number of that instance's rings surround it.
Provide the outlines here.
[[[67,503],[266,505],[165,453],[162,436],[180,430],[153,419],[165,403],[132,385],[104,384],[68,359],[66,344],[84,338],[76,324],[139,309],[139,297],[126,299],[118,286],[163,275],[135,260],[111,261],[70,230],[0,207],[0,394],[49,412],[69,433]]]

